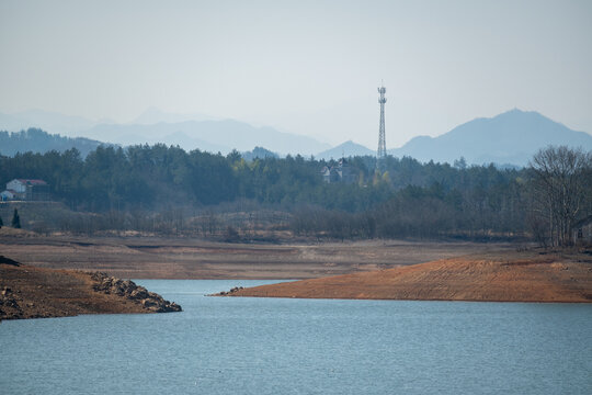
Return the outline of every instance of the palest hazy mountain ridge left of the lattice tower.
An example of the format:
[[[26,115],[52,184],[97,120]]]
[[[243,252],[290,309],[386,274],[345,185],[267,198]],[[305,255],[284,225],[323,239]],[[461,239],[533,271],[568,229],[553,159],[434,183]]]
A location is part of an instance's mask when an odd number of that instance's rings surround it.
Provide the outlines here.
[[[186,150],[198,148],[223,154],[232,149],[247,151],[255,146],[264,146],[281,155],[314,155],[330,148],[329,144],[312,137],[278,132],[269,126],[255,127],[244,122],[213,120],[200,114],[169,114],[157,109],[148,109],[130,124],[93,123],[82,117],[38,110],[10,115],[0,113],[0,131],[19,132],[29,127],[122,146],[163,143],[179,145]]]

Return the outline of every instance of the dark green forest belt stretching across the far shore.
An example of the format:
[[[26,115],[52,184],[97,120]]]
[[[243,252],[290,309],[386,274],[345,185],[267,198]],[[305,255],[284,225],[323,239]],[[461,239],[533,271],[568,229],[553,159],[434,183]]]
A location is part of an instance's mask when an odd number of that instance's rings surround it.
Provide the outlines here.
[[[579,161],[540,158],[549,150],[561,158],[573,154]],[[592,215],[592,155],[549,147],[538,156],[522,169],[467,166],[463,158],[451,166],[391,156],[377,167],[375,157],[354,157],[345,165],[352,182],[329,183],[321,169],[338,162],[312,157],[246,160],[238,151],[223,156],[166,145],[100,146],[86,158],[77,149],[0,156],[0,183],[15,178],[47,181],[54,201],[77,213],[93,213],[87,230],[209,232],[239,238],[252,228],[246,222],[252,223],[253,213],[273,212],[296,236],[570,244],[570,224]],[[545,168],[544,159],[558,168]],[[565,182],[554,187],[549,180]],[[566,185],[571,190],[555,202],[545,198],[555,193],[553,188]],[[573,202],[559,207],[566,198]],[[230,212],[249,212],[250,219],[230,226],[220,221]],[[80,225],[70,218],[60,227],[76,230]]]

